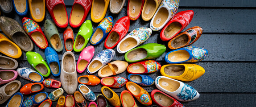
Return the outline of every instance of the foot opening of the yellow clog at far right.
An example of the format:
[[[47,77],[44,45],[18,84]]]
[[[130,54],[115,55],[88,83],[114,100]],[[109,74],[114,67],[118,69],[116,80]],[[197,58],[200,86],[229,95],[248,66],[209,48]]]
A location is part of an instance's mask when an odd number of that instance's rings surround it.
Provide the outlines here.
[[[184,71],[185,71],[185,66],[183,65],[171,65],[171,66],[166,66],[164,68],[165,74],[173,77],[182,75]]]

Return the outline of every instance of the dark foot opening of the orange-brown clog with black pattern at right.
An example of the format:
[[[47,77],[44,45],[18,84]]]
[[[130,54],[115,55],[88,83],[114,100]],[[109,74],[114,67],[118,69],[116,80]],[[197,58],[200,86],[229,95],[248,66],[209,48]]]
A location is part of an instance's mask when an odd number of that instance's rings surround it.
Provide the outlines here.
[[[188,43],[188,41],[189,41],[189,37],[186,34],[183,34],[173,39],[173,41],[171,41],[171,46],[173,48],[180,48],[185,46],[186,43]]]

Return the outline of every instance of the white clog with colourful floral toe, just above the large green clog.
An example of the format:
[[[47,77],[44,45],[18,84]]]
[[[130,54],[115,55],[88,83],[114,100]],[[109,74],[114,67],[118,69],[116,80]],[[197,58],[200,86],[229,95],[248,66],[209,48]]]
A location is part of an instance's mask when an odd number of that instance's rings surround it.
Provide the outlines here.
[[[144,43],[151,36],[152,30],[150,28],[137,28],[122,39],[116,50],[119,53],[126,53],[136,46]]]

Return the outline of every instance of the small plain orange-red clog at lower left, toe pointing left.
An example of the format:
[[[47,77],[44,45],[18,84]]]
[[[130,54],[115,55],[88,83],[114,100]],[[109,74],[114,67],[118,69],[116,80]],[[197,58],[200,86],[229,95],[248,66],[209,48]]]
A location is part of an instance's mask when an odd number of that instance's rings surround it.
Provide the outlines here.
[[[44,89],[44,86],[41,83],[28,83],[21,87],[20,92],[23,95],[29,95],[32,93],[42,91],[43,89]]]

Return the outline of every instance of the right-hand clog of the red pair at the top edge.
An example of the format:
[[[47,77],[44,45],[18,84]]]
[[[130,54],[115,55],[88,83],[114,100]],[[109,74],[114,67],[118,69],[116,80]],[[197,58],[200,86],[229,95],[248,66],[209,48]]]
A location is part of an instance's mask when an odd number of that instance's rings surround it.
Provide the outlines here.
[[[74,0],[70,13],[69,24],[72,28],[81,26],[91,9],[92,0]]]

